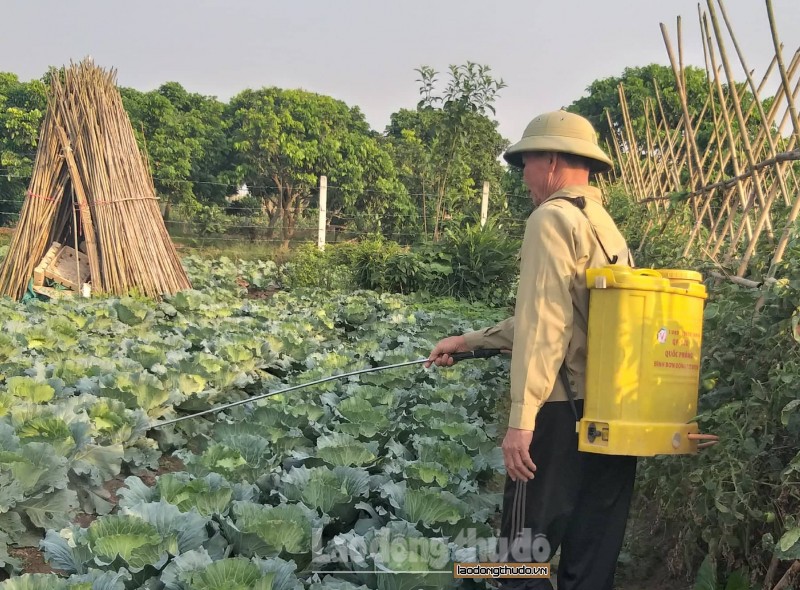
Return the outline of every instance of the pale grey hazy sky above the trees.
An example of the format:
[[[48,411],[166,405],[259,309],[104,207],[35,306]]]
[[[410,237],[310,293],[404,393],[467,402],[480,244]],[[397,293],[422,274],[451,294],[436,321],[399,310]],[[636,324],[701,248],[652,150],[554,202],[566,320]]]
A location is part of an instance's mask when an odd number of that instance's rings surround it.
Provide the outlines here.
[[[800,0],[773,6],[788,62]],[[760,78],[774,55],[765,2],[726,7]],[[0,71],[29,80],[88,55],[139,90],[177,81],[228,100],[245,88],[303,88],[358,105],[383,131],[392,112],[415,107],[415,68],[444,80],[450,64],[473,61],[508,85],[496,119],[515,141],[593,80],[667,65],[659,23],[676,43],[679,15],[684,61],[702,67],[696,0],[0,0]]]

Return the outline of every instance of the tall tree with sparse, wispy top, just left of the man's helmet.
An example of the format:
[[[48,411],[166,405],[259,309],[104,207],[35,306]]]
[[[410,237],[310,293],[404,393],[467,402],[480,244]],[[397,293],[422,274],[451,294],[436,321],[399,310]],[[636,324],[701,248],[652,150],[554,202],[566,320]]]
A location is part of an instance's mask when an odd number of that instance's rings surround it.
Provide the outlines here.
[[[482,181],[499,194],[497,158],[508,144],[487,112],[494,113],[505,83],[488,66],[467,62],[450,66],[444,91],[437,94],[438,72],[428,66],[416,71],[422,98],[416,110],[392,114],[386,136],[405,186],[418,198],[425,235],[432,230],[438,239],[443,219],[475,209],[467,201],[479,202],[474,197]]]

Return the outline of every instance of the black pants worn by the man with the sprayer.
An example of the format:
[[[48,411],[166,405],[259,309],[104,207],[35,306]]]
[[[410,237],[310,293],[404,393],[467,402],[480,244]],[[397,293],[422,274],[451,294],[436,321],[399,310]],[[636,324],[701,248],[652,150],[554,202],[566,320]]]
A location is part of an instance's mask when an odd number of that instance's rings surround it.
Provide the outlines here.
[[[583,401],[576,402],[583,414]],[[546,562],[561,546],[558,590],[612,590],[625,535],[636,457],[578,451],[569,402],[539,411],[531,442],[536,476],[506,478],[501,561]],[[516,539],[516,542],[515,542]],[[549,580],[505,580],[502,589],[551,589]]]

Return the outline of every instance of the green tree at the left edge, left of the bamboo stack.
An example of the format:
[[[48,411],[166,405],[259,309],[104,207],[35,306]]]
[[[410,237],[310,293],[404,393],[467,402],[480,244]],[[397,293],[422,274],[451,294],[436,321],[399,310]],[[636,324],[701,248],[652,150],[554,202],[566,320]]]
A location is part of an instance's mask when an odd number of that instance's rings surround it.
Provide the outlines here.
[[[47,110],[44,82],[0,73],[0,224],[15,223],[33,173]]]

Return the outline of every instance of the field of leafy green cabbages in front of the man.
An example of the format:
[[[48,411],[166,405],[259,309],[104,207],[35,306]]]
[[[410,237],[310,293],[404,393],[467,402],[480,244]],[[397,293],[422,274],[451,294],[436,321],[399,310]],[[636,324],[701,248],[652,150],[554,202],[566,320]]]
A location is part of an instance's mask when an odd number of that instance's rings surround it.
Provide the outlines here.
[[[0,588],[456,587],[452,562],[474,561],[496,524],[506,360],[152,427],[426,356],[502,312],[282,291],[271,262],[184,264],[195,290],[161,302],[0,301]],[[55,573],[19,575],[21,547]]]

